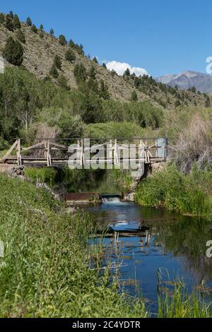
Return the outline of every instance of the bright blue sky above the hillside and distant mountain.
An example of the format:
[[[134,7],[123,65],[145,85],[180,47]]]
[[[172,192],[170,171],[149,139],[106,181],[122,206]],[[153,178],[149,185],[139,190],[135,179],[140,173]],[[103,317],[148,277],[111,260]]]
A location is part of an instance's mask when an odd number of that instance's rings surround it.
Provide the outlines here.
[[[28,16],[86,54],[126,62],[153,76],[206,71],[212,56],[211,0],[1,0],[0,11]]]

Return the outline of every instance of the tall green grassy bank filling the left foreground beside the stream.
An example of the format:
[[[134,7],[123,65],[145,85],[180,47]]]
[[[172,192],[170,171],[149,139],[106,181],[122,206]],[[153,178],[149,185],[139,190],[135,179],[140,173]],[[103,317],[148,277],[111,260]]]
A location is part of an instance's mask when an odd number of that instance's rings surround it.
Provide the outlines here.
[[[64,212],[43,189],[0,175],[0,316],[146,316],[90,269],[93,221]]]

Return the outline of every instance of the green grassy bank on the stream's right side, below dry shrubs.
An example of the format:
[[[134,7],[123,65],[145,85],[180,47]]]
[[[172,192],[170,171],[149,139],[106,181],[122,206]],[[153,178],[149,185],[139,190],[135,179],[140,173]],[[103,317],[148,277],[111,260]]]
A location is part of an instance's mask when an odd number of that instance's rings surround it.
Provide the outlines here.
[[[162,206],[191,215],[212,215],[212,172],[193,166],[185,175],[174,165],[144,179],[136,190],[136,202]]]

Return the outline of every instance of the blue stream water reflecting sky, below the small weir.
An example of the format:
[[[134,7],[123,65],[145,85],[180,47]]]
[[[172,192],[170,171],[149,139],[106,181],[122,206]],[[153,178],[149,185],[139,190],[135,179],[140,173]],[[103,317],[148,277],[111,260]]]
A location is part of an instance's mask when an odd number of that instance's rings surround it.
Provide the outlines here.
[[[178,278],[189,291],[198,288],[211,300],[212,259],[206,257],[206,242],[212,233],[205,220],[124,203],[117,197],[84,208],[100,228],[122,231],[119,237],[104,239],[105,263],[118,266],[119,285],[131,295],[142,295],[151,312],[157,312],[158,292],[171,293]],[[160,287],[158,278],[163,281]]]

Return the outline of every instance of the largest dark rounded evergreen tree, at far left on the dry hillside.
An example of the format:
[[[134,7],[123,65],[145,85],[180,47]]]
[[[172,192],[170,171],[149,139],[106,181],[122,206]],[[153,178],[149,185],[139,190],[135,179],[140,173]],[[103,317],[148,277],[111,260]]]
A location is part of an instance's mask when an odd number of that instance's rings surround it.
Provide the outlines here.
[[[18,40],[13,40],[12,37],[8,37],[6,46],[3,51],[3,57],[15,66],[20,66],[23,62],[23,47]]]

